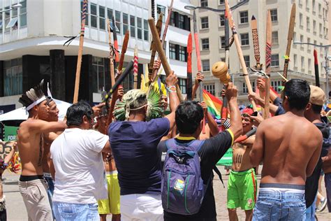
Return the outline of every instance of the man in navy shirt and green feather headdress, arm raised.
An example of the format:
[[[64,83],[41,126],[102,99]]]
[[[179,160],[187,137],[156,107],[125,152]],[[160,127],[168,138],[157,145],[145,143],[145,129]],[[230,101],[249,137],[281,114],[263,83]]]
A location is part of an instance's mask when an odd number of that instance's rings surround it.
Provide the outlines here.
[[[110,124],[108,134],[121,188],[122,220],[163,220],[157,145],[174,127],[179,104],[173,72],[165,83],[171,110],[165,117],[160,117],[161,96],[153,89],[148,94],[128,91],[115,107],[117,121]]]

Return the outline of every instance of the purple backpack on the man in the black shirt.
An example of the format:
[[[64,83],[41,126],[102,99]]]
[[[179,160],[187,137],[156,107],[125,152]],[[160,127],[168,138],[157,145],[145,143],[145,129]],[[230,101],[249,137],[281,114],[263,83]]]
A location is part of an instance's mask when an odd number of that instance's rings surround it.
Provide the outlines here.
[[[203,184],[198,151],[204,141],[177,143],[174,138],[165,141],[165,156],[161,197],[163,209],[169,213],[192,215],[198,213],[209,184]]]

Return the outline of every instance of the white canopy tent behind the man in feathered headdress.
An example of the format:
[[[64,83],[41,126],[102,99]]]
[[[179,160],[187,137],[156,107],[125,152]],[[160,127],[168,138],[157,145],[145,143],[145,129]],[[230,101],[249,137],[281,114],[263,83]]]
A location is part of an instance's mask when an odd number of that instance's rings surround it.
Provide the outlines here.
[[[66,115],[66,110],[68,109],[68,107],[71,106],[71,104],[57,99],[53,99],[53,100],[55,101],[55,103],[57,104],[57,108],[59,109],[59,120],[64,120],[64,116]],[[27,110],[25,110],[25,108],[23,107],[0,115],[0,121],[27,120],[28,117],[29,114],[27,113]]]

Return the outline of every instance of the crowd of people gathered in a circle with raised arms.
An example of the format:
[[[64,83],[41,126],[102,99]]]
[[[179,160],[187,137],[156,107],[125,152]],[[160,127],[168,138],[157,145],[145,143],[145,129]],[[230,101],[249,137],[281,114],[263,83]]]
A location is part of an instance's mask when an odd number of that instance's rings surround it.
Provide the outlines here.
[[[193,93],[198,80],[203,76]],[[331,212],[330,128],[321,116],[321,88],[289,80],[263,119],[238,108],[237,88],[228,83],[230,124],[218,125],[204,102],[179,102],[176,85],[172,72],[168,97],[159,94],[157,101],[150,92],[119,90],[109,127],[108,105],[79,101],[62,122],[43,82],[25,92],[19,101],[29,118],[20,124],[17,147],[29,220],[106,220],[108,214],[112,220],[216,220],[213,171],[229,148],[229,220],[238,220],[237,208],[246,220],[314,220],[322,171],[327,196],[320,199]],[[263,81],[258,86],[265,88]],[[258,94],[249,100],[265,106]],[[261,163],[258,188],[253,168]]]

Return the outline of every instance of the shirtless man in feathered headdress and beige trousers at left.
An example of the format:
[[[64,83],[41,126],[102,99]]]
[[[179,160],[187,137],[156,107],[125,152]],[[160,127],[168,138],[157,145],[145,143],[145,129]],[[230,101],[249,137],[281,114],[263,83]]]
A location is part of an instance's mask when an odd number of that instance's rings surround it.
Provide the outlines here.
[[[29,118],[20,124],[17,132],[17,146],[22,163],[20,192],[23,197],[29,220],[52,220],[45,182],[43,181],[43,140],[42,134],[61,131],[64,122],[46,122],[50,107],[40,85],[22,94],[19,102],[29,112]]]

